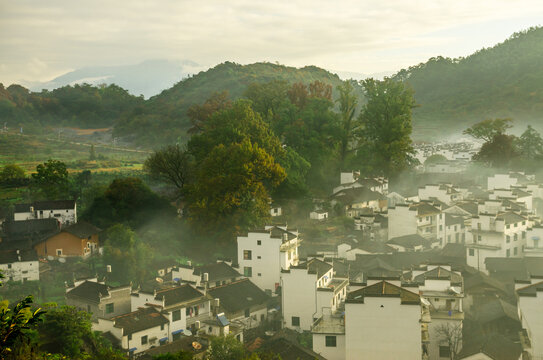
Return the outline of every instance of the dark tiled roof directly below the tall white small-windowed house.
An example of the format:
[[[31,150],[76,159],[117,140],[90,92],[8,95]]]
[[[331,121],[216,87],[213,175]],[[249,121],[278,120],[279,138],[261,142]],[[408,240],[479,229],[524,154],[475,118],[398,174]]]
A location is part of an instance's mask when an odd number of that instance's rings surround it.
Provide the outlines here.
[[[270,298],[249,279],[234,281],[208,290],[213,298],[220,299],[221,307],[235,313],[255,305],[265,304]]]

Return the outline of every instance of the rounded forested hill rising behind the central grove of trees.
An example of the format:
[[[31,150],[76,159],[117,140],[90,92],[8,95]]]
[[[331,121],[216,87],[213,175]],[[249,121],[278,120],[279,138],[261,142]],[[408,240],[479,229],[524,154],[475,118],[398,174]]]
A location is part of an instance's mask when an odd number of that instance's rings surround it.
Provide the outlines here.
[[[144,106],[126,114],[117,123],[115,135],[129,136],[148,146],[183,141],[187,138],[187,110],[191,105],[202,104],[214,92],[225,90],[234,100],[243,96],[249,84],[272,80],[304,84],[319,80],[332,85],[334,91],[341,83],[337,75],[315,66],[298,69],[272,63],[239,65],[225,62],[180,81],[146,101]]]

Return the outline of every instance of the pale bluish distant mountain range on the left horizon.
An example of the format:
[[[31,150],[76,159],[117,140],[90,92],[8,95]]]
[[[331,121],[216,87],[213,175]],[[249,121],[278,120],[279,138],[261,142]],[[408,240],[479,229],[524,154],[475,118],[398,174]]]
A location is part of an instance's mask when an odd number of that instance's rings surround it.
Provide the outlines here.
[[[131,94],[149,98],[202,70],[190,60],[148,60],[136,65],[96,66],[71,71],[47,82],[25,82],[32,91],[53,90],[66,85],[116,84]]]

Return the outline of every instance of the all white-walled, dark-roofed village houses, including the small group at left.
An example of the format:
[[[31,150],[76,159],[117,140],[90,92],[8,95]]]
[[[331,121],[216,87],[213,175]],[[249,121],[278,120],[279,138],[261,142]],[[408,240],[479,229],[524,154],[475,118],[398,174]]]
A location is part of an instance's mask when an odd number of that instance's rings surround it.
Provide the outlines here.
[[[330,203],[354,220],[350,235],[323,245],[269,225],[237,237],[233,262],[170,266],[138,288],[80,279],[66,303],[142,358],[203,354],[210,336],[226,335],[289,349],[283,359],[543,358],[543,186],[533,176],[410,196],[356,171],[340,180]],[[310,220],[328,217],[317,206]],[[39,258],[99,253],[100,229],[77,221],[74,202],[17,206],[2,228],[0,268],[14,281],[39,279]],[[310,334],[312,349],[273,337],[289,331]]]

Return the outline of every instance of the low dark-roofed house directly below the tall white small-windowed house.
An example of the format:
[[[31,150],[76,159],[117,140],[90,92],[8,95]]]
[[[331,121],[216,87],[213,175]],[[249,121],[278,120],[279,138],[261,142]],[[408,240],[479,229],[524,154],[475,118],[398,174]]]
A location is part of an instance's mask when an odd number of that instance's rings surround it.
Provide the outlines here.
[[[270,297],[249,279],[242,279],[208,290],[231,323],[246,329],[262,324],[268,318]]]

